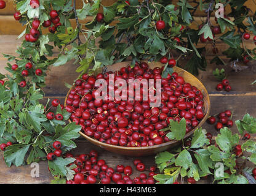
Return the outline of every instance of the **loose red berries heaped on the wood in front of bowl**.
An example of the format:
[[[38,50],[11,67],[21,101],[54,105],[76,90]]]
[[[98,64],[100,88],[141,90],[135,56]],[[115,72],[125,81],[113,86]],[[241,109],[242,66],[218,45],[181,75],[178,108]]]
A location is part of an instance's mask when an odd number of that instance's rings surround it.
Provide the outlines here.
[[[66,153],[65,157],[73,157],[73,154]],[[127,165],[117,165],[116,171],[112,167],[106,165],[105,160],[98,160],[97,151],[90,151],[89,154],[79,154],[74,157],[76,160],[70,164],[75,165],[73,169],[76,174],[74,178],[66,181],[66,184],[154,184],[153,176],[156,175],[156,167],[150,167],[150,173],[140,173],[140,176],[134,179],[130,178],[132,175],[132,167]],[[138,171],[145,171],[145,165],[141,160],[134,160],[134,165]],[[123,176],[123,175],[124,176]]]

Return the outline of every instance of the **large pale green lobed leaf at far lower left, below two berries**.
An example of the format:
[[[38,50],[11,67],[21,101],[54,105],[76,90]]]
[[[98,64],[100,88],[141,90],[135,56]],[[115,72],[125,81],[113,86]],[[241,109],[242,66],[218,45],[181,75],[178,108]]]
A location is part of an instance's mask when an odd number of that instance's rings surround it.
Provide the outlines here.
[[[28,148],[30,148],[30,145],[10,145],[4,151],[4,160],[6,160],[6,162],[13,162],[15,166],[18,167],[23,164]]]

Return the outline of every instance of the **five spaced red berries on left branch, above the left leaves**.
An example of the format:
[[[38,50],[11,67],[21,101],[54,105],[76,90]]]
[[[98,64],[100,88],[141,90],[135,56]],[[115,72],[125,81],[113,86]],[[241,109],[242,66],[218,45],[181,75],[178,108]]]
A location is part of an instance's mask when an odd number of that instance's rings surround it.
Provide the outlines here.
[[[32,64],[31,62],[26,63],[24,70],[18,69],[18,65],[17,65],[17,64],[13,64],[13,65],[12,65],[12,70],[14,70],[14,71],[19,71],[19,72],[21,71],[20,74],[21,74],[24,78],[28,77],[29,74],[36,74],[36,75],[38,75],[38,76],[41,76],[41,75],[42,75],[42,70],[41,70],[41,69],[36,69],[36,70],[34,70],[34,69],[32,69],[32,68],[33,68],[33,64]],[[18,70],[17,70],[17,69],[18,69]],[[24,87],[26,86],[26,80],[22,80],[19,85],[20,85],[20,87],[24,88]]]

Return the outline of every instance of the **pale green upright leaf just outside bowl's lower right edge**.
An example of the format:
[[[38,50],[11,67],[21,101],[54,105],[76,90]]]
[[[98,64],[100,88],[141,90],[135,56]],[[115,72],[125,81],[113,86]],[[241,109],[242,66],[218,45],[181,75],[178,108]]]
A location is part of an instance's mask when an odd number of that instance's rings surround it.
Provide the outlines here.
[[[206,134],[202,132],[202,128],[194,131],[190,148],[201,148],[202,146],[209,145],[209,139],[206,138]]]

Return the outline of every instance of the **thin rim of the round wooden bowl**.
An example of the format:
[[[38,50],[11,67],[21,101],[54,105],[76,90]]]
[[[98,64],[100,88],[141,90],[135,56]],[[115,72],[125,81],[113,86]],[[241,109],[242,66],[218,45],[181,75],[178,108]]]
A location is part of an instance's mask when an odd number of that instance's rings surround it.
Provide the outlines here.
[[[125,63],[129,63],[131,61],[126,61]],[[145,61],[146,62],[146,61]],[[148,64],[152,63],[152,62],[147,62]],[[156,62],[153,62],[153,63],[156,63]],[[120,64],[120,62],[118,63]],[[114,64],[113,64],[114,65]],[[112,66],[113,66],[112,65]],[[185,72],[186,74],[188,75],[191,75],[191,77],[193,77],[197,83],[199,83],[199,85],[201,85],[201,88],[204,90],[205,94],[206,94],[206,102],[207,104],[209,105],[209,107],[207,108],[207,111],[206,111],[206,115],[204,116],[204,118],[202,118],[202,120],[200,121],[200,123],[198,124],[198,126],[194,127],[194,129],[192,129],[190,132],[188,132],[187,134],[185,134],[184,136],[184,139],[190,137],[193,133],[194,133],[194,130],[198,129],[199,127],[202,126],[202,124],[204,124],[209,116],[209,113],[210,113],[210,97],[209,97],[209,94],[206,90],[206,87],[202,84],[202,82],[197,78],[195,77],[193,74],[191,74],[190,72],[180,68],[180,67],[177,67],[175,66],[174,69],[177,69],[177,70],[180,70],[180,71],[183,71]],[[174,70],[175,72],[175,70]],[[70,91],[74,88],[74,85],[69,89],[68,93],[66,94],[66,97],[65,97],[65,102],[64,102],[64,107],[66,107],[66,100],[68,99],[68,95],[70,94]],[[68,119],[68,121],[71,123],[71,120]],[[148,149],[156,149],[156,148],[160,148],[160,147],[167,147],[169,145],[172,145],[174,143],[180,143],[181,141],[179,140],[170,140],[170,141],[167,141],[167,142],[164,142],[164,143],[161,143],[160,145],[153,145],[153,146],[140,146],[140,147],[127,147],[127,146],[118,146],[118,145],[110,145],[110,144],[107,144],[107,143],[103,143],[101,141],[98,141],[98,140],[95,140],[94,138],[91,138],[89,136],[87,136],[86,134],[84,134],[83,132],[79,131],[79,134],[82,135],[82,137],[86,138],[87,140],[89,140],[91,143],[94,143],[94,144],[97,144],[98,146],[100,146],[101,148],[116,148],[116,149],[124,149],[124,150],[136,150],[136,149],[140,149],[140,150],[148,150]]]

